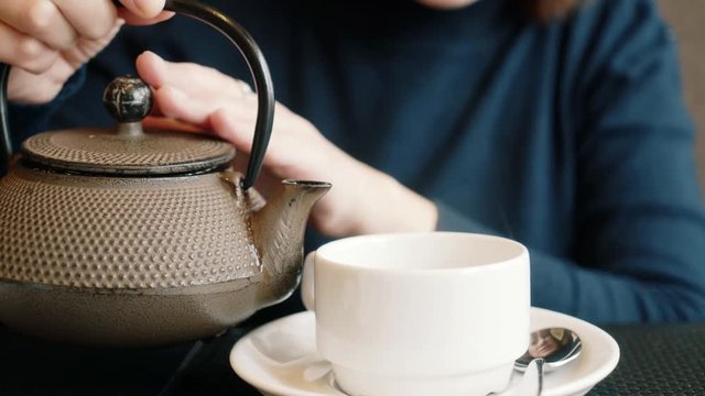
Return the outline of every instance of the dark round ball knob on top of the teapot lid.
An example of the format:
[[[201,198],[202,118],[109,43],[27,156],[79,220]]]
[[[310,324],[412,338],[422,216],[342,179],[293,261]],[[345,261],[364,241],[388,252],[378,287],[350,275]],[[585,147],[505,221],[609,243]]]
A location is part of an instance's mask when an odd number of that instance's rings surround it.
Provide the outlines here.
[[[119,123],[140,122],[152,110],[152,91],[139,78],[118,77],[102,92],[102,103]]]

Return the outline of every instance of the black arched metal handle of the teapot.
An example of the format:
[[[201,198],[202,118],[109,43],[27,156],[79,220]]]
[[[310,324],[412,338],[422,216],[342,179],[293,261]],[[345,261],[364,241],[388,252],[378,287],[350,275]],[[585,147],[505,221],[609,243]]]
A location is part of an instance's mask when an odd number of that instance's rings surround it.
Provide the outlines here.
[[[252,36],[242,26],[210,6],[206,6],[196,0],[166,0],[164,9],[204,22],[227,36],[240,51],[240,54],[242,54],[250,68],[254,90],[258,96],[258,110],[250,160],[247,173],[242,179],[242,188],[248,189],[254,184],[262,168],[264,152],[269,144],[274,121],[274,87],[264,55]],[[2,153],[7,155],[2,166],[7,166],[10,155],[12,154],[12,141],[10,139],[7,114],[9,74],[10,67],[0,64],[0,138],[2,140]]]

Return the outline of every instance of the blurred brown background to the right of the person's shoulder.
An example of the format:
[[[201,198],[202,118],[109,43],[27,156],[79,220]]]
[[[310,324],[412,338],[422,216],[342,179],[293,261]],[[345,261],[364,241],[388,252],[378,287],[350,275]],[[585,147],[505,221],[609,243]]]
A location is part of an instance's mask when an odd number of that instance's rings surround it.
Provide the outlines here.
[[[659,0],[659,7],[679,40],[685,100],[697,127],[696,158],[705,190],[705,0]]]

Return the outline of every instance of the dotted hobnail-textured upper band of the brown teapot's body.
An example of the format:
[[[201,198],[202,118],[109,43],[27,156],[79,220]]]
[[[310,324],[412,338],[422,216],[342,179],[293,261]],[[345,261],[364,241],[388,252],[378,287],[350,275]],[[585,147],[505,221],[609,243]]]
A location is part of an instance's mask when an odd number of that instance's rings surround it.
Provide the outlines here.
[[[234,199],[242,193],[231,183],[214,178],[220,176],[11,174],[0,188],[0,244],[9,246],[0,251],[0,277],[142,289],[257,275],[262,266],[250,222],[237,220],[251,209]]]

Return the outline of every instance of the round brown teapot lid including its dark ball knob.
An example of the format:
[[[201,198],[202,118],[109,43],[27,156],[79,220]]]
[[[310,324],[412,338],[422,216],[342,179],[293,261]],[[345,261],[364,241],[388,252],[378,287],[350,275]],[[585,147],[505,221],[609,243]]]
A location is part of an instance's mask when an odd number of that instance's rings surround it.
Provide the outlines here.
[[[235,147],[197,133],[143,131],[152,108],[150,88],[138,78],[119,77],[102,97],[118,120],[115,129],[50,131],[22,144],[25,157],[51,168],[108,175],[174,175],[221,167]]]

